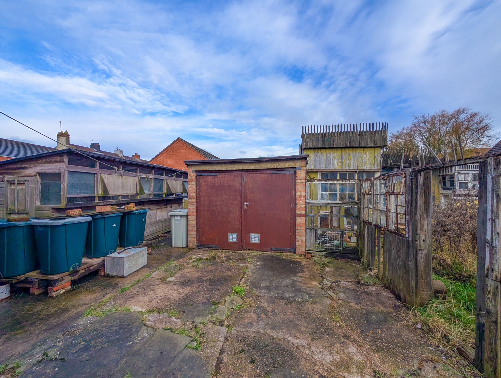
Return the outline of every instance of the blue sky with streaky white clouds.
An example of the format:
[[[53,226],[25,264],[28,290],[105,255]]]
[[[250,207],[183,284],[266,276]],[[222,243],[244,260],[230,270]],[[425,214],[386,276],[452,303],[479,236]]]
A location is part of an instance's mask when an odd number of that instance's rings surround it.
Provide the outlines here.
[[[303,125],[458,106],[498,132],[499,20],[501,1],[2,1],[0,111],[142,159],[177,137],[294,155]],[[0,138],[55,147],[0,116]]]

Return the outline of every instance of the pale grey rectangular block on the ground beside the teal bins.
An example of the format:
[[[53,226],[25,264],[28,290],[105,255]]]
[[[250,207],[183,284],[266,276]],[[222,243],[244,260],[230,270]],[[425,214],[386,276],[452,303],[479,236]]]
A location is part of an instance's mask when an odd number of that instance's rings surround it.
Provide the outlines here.
[[[146,265],[147,248],[125,248],[104,258],[105,274],[108,277],[127,277]]]

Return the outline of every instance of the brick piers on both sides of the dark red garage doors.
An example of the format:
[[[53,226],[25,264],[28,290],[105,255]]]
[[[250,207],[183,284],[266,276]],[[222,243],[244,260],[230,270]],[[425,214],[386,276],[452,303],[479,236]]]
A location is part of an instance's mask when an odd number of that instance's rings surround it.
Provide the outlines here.
[[[196,248],[196,173],[188,172],[188,248]],[[296,172],[296,254],[306,254],[306,160]]]

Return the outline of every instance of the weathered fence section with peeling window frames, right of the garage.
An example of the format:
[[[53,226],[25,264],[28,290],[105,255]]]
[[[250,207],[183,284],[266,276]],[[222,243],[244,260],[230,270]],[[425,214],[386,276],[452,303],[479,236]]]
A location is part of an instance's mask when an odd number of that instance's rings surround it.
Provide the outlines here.
[[[384,182],[383,182],[384,181]],[[365,180],[360,255],[402,302],[422,306],[431,280],[431,171],[404,169]]]

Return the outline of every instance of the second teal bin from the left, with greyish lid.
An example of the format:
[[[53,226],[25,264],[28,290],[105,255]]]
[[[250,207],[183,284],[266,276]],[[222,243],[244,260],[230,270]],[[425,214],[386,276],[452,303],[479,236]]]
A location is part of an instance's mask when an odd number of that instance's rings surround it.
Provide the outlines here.
[[[90,216],[66,219],[35,219],[40,273],[54,275],[82,265]]]

